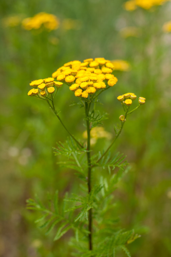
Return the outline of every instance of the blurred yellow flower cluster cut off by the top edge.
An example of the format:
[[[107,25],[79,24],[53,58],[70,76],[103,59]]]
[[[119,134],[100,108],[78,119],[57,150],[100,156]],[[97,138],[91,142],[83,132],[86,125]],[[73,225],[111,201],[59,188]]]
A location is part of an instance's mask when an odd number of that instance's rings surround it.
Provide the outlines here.
[[[129,0],[124,3],[124,9],[127,11],[134,11],[137,7],[149,10],[155,5],[162,5],[170,0]]]

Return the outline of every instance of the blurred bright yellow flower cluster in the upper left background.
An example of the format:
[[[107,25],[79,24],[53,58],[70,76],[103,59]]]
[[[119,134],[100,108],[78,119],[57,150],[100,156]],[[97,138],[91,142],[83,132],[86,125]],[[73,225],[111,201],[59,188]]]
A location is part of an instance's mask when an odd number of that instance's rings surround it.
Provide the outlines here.
[[[26,30],[39,29],[42,25],[48,30],[56,30],[59,27],[58,18],[49,13],[38,13],[33,17],[26,18],[22,21],[22,25]]]

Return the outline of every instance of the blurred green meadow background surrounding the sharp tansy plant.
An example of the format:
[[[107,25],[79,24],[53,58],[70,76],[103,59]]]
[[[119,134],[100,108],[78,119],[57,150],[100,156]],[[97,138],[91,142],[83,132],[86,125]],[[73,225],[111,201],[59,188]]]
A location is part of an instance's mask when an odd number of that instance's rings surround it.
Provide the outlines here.
[[[115,71],[118,83],[101,95],[99,109],[109,113],[105,130],[114,134],[113,125],[123,114],[118,95],[134,92],[146,98],[146,104],[127,119],[113,147],[113,152],[127,155],[132,166],[115,191],[121,226],[142,235],[129,250],[133,257],[171,256],[171,33],[162,31],[171,3],[128,12],[123,2],[1,0],[0,256],[70,256],[72,232],[53,242],[53,235],[46,237],[36,227],[36,213],[25,209],[26,199],[35,193],[44,200],[47,192],[59,189],[62,197],[78,190],[79,184],[72,170],[56,165],[52,150],[57,141],[66,139],[66,131],[49,107],[27,92],[32,80],[51,76],[63,63],[91,57],[123,59],[131,66],[127,72]],[[21,23],[5,23],[11,16],[23,19],[39,12],[56,15],[59,28],[27,31]],[[66,19],[79,26],[66,28]],[[137,27],[139,34],[123,37],[120,30],[129,26]],[[84,110],[69,107],[72,101],[74,94],[60,88],[56,97],[60,116],[84,140]],[[99,139],[94,150],[108,144]]]

